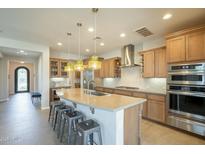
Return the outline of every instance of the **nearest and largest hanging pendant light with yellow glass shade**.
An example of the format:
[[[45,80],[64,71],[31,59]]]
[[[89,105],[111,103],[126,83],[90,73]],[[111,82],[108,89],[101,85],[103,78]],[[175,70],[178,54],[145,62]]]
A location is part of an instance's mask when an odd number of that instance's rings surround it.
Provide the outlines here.
[[[98,70],[101,69],[101,64],[102,62],[99,60],[98,56],[96,55],[97,52],[97,47],[96,47],[96,43],[97,43],[97,26],[96,26],[96,17],[97,17],[97,12],[98,12],[98,8],[94,8],[92,9],[92,12],[94,13],[94,26],[95,26],[95,37],[94,37],[94,55],[90,57],[89,61],[88,61],[88,68],[92,69],[92,70]]]

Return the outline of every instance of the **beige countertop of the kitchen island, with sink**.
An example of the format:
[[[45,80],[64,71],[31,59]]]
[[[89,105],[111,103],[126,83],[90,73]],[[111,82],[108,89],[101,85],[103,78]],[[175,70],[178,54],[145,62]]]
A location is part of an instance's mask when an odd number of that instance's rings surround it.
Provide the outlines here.
[[[80,88],[65,89],[60,97],[76,104],[109,111],[119,111],[146,102],[146,99],[143,98],[117,94],[107,94],[104,96],[89,95],[85,94],[83,89]]]

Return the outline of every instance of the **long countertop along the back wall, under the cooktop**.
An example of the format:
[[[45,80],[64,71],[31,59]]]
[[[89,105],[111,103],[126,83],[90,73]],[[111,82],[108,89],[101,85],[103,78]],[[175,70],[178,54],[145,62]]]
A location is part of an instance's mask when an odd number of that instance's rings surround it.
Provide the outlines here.
[[[132,91],[132,92],[143,92],[143,93],[151,93],[151,94],[158,94],[158,95],[166,95],[166,90],[156,91],[155,89],[125,89],[125,88],[116,88],[116,87],[105,87],[105,86],[97,86],[102,88],[109,88],[109,89],[119,89],[125,91]]]

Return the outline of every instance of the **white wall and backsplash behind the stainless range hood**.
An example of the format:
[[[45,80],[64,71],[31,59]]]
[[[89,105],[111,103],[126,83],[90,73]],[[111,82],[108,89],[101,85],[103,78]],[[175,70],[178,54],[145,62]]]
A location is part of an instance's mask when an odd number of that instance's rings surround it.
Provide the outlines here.
[[[165,41],[163,38],[144,42],[143,44],[135,45],[135,54],[137,51],[148,50],[163,46]],[[111,57],[121,57],[121,49],[117,49],[111,52],[107,52],[99,55],[105,59]],[[164,91],[166,89],[165,78],[143,78],[141,67],[128,67],[121,69],[121,78],[105,78],[103,80],[97,80],[97,83],[103,86],[115,87],[115,86],[134,86],[140,89],[151,89],[157,91]]]

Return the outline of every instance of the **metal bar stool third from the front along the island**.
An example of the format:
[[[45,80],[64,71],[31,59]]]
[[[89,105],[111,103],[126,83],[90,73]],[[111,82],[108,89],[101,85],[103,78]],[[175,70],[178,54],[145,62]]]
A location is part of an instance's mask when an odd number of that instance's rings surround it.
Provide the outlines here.
[[[54,125],[53,125],[54,131],[56,129],[56,125],[59,126],[59,120],[61,120],[62,113],[63,112],[70,112],[72,110],[73,110],[73,107],[71,107],[69,105],[61,105],[61,106],[55,108],[55,111],[54,111],[55,117],[54,117]]]

